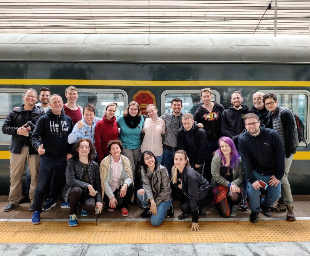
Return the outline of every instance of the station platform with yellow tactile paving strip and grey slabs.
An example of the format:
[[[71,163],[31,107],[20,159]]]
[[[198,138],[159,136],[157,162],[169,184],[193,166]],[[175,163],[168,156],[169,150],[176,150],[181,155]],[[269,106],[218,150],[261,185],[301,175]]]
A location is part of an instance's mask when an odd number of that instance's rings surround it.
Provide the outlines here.
[[[286,221],[286,213],[259,214],[250,223],[250,210],[238,210],[235,217],[222,218],[216,209],[206,208],[199,219],[199,232],[191,232],[191,218],[178,220],[181,213],[174,202],[174,218],[161,226],[140,219],[142,209],[129,206],[129,216],[116,209],[104,209],[95,224],[95,215],[81,217],[69,227],[69,209],[60,202],[41,214],[41,223],[31,223],[30,204],[4,212],[7,196],[0,197],[0,255],[310,255],[310,196],[294,196],[296,221]],[[91,253],[92,252],[92,253]],[[123,253],[120,253],[123,252]],[[206,254],[206,252],[208,252]]]

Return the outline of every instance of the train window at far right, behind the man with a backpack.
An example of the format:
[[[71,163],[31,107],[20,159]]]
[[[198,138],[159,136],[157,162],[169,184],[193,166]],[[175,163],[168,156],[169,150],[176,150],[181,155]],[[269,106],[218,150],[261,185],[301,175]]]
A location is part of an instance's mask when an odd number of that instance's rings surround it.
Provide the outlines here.
[[[285,107],[293,111],[293,114],[298,115],[299,119],[305,126],[304,137],[309,140],[309,105],[310,94],[308,91],[292,91],[292,90],[263,90],[263,93],[276,93],[279,106]],[[301,143],[300,145],[303,145]]]

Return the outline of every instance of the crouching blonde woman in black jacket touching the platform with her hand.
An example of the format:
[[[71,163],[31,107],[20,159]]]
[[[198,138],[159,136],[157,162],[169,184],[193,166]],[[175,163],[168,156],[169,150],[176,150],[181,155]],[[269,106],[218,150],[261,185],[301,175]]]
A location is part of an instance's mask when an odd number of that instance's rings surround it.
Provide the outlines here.
[[[178,150],[174,154],[171,181],[173,196],[182,204],[183,213],[179,215],[178,219],[185,219],[186,214],[192,214],[191,231],[199,231],[198,210],[211,204],[213,193],[210,190],[209,182],[190,167],[184,150]]]

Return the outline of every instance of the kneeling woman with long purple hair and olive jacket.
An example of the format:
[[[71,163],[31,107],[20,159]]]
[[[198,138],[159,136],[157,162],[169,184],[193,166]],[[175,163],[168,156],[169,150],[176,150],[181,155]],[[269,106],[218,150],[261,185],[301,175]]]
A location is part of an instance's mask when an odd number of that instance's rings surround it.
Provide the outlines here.
[[[236,216],[242,199],[243,171],[241,158],[231,138],[219,139],[219,149],[212,158],[211,174],[215,205],[220,215],[224,218]]]

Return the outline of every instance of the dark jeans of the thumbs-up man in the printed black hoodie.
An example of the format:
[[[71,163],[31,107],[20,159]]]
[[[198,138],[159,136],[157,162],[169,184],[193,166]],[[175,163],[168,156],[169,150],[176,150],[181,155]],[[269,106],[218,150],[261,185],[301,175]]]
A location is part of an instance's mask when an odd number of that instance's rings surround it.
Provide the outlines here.
[[[56,182],[60,184],[61,190],[64,188],[66,182],[66,167],[67,161],[65,156],[59,159],[47,158],[44,156],[41,157],[39,179],[34,192],[33,211],[42,212],[41,206],[44,201],[44,195],[50,185],[49,182],[53,176],[54,170],[56,171],[58,178]],[[57,191],[54,191],[52,196],[57,197]]]

